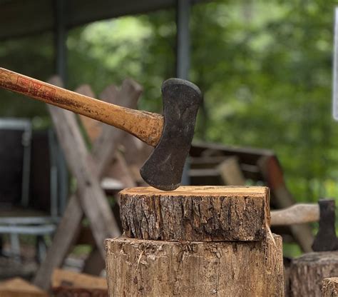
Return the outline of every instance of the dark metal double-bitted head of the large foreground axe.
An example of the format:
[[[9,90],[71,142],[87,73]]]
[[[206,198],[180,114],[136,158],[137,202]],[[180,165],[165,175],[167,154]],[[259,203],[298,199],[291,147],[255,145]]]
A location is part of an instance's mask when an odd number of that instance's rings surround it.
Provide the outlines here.
[[[198,86],[183,79],[164,81],[162,95],[162,136],[140,174],[150,186],[172,191],[180,186],[202,96]]]

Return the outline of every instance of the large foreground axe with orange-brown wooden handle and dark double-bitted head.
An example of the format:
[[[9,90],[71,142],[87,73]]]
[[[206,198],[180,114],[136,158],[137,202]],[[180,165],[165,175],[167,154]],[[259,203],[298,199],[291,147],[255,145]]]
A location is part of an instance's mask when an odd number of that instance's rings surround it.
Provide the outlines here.
[[[140,168],[142,178],[164,191],[180,186],[201,101],[200,89],[190,81],[163,82],[164,116],[109,104],[3,68],[0,87],[115,126],[155,146]]]

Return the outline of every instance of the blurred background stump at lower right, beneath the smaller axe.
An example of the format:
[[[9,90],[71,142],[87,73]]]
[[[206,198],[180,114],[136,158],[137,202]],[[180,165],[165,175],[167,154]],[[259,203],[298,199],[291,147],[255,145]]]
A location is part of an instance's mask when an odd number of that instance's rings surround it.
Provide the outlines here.
[[[322,280],[338,276],[338,252],[306,253],[292,261],[290,295],[322,296]]]

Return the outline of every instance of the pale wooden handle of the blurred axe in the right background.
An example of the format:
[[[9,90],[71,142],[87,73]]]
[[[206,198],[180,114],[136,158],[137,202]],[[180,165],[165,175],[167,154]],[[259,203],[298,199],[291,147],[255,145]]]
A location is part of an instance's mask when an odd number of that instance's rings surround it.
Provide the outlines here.
[[[280,211],[271,211],[271,226],[289,226],[319,221],[319,205],[298,203]]]

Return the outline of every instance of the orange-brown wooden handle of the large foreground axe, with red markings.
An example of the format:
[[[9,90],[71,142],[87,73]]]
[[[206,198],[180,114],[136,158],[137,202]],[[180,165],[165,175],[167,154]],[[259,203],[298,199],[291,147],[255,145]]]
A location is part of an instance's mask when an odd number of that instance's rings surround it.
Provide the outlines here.
[[[150,146],[156,146],[162,135],[163,116],[159,114],[108,104],[14,71],[0,68],[0,87],[115,126]]]

